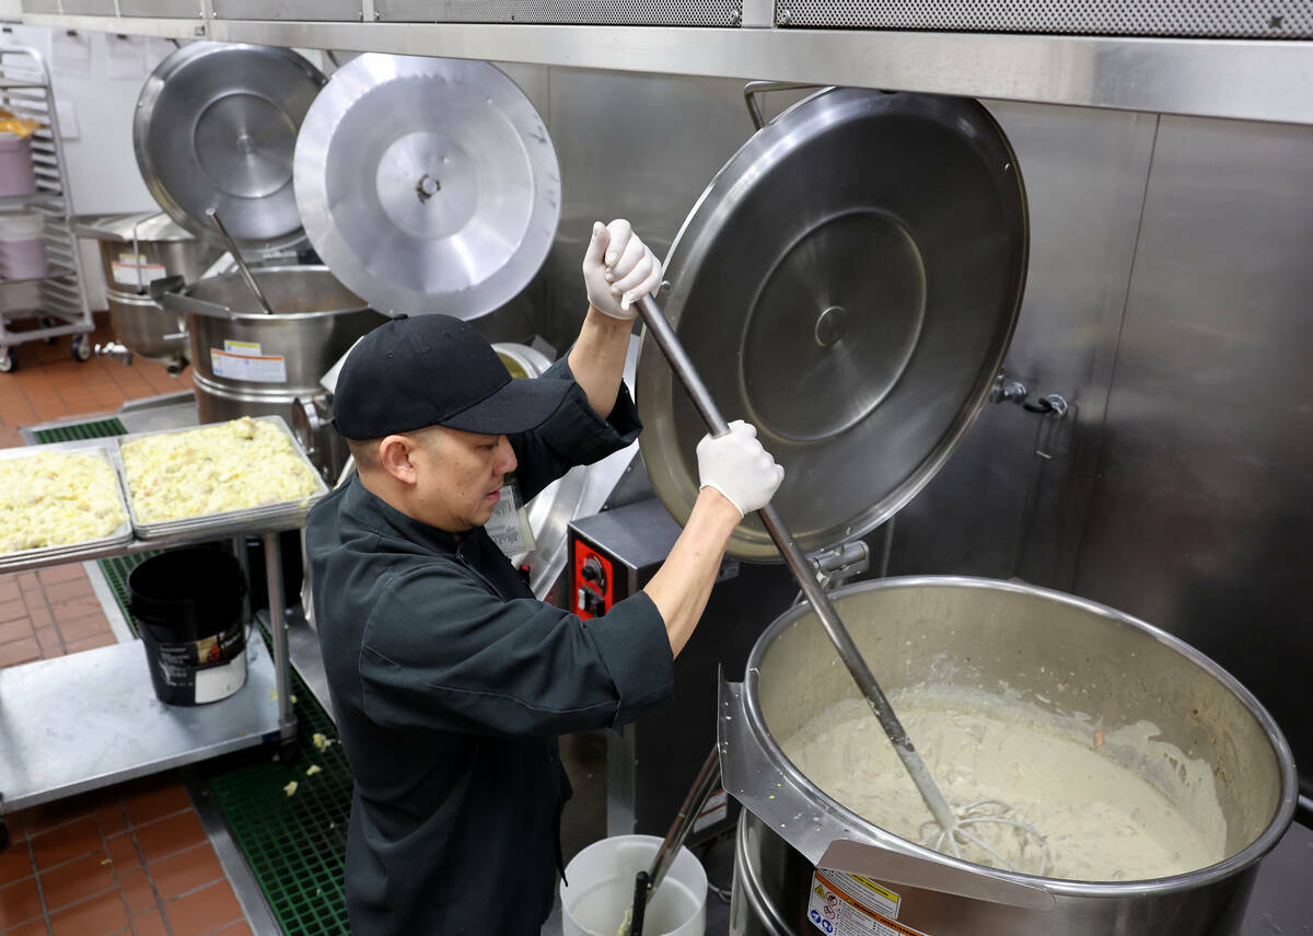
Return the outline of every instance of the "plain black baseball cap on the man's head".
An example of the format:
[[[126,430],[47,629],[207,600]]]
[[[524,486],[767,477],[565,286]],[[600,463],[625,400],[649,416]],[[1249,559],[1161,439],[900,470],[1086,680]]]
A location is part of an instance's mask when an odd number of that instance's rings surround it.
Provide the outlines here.
[[[569,380],[513,380],[488,340],[458,318],[399,317],[347,355],[334,425],[361,440],[425,426],[508,435],[541,425],[570,386]]]

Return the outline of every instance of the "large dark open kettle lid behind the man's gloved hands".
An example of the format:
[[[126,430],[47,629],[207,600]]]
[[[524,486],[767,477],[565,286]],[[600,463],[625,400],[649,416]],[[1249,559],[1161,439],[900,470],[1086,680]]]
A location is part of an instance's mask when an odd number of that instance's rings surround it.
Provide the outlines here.
[[[989,394],[1025,281],[1025,192],[977,101],[827,89],[758,131],[666,260],[664,312],[726,419],[785,468],[804,551],[861,536],[935,475]],[[651,337],[643,461],[683,522],[705,429]],[[729,552],[773,560],[760,521]]]

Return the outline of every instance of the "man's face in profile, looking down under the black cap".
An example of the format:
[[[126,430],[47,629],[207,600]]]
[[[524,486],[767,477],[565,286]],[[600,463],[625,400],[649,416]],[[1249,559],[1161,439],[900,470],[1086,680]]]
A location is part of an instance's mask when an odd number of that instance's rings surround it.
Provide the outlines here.
[[[481,435],[433,426],[412,455],[415,496],[424,521],[439,530],[463,532],[492,517],[515,451],[504,435]]]

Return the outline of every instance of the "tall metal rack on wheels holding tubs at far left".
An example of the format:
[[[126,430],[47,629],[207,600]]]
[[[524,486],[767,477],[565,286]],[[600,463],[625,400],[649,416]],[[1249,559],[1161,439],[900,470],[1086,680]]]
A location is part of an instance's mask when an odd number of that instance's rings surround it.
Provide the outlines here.
[[[30,210],[43,220],[47,272],[30,279],[0,276],[0,372],[14,368],[13,347],[24,342],[74,335],[72,354],[91,358],[88,334],[96,327],[87,301],[81,255],[72,227],[72,197],[59,137],[59,116],[50,71],[41,53],[26,46],[0,49],[0,106],[39,125],[32,134],[37,188],[0,197],[0,212]],[[21,330],[11,323],[35,319]]]

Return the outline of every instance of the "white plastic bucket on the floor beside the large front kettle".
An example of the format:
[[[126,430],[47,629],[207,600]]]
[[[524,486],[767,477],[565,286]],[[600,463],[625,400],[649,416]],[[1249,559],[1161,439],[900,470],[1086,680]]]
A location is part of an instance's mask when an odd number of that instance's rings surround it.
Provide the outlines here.
[[[616,835],[595,841],[566,865],[561,882],[565,936],[616,936],[634,902],[634,876],[660,847],[654,835]],[[670,865],[643,915],[643,936],[702,936],[706,929],[706,872],[687,848]]]

